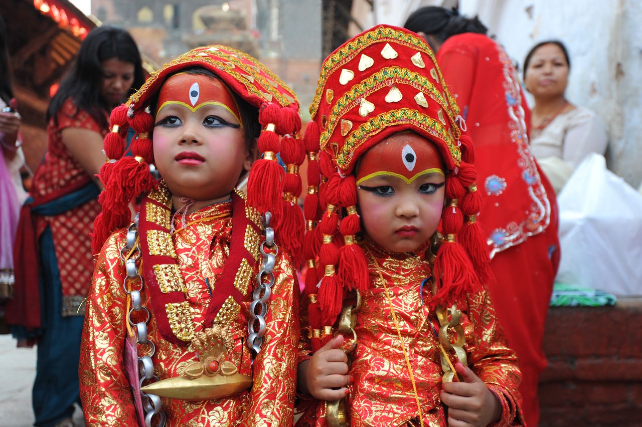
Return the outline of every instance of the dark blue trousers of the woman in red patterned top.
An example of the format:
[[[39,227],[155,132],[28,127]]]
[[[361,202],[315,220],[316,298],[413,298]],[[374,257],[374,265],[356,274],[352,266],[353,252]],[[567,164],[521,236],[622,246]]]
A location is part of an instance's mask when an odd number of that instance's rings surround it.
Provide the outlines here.
[[[53,426],[71,417],[74,402],[80,404],[78,362],[84,317],[62,316],[62,283],[49,227],[39,244],[43,328],[38,340],[33,413],[35,426]]]

